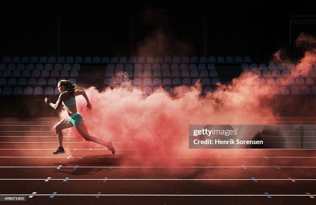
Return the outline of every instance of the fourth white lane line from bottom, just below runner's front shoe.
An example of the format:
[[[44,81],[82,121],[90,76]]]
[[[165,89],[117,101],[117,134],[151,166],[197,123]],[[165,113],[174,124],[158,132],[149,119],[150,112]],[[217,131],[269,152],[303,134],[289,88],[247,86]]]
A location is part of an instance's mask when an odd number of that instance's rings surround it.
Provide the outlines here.
[[[81,157],[26,157],[26,156],[0,156],[0,158],[82,158]],[[84,158],[316,158],[316,157],[126,157],[126,156],[121,156],[121,157],[84,157]]]

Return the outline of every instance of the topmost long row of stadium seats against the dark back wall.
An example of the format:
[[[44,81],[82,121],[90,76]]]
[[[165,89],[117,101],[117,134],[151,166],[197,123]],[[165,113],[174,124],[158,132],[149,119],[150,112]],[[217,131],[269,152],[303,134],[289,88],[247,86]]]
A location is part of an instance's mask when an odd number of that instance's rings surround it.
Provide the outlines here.
[[[11,57],[5,56],[3,57],[3,63],[251,63],[251,58],[249,56],[245,56],[242,58],[241,56],[236,56],[235,59],[232,56],[227,56],[226,60],[223,56],[218,56],[217,59],[215,56],[210,57],[197,57],[192,56],[191,58],[184,56],[182,59],[179,56],[170,57],[166,56],[164,59],[161,56],[155,57],[147,57],[146,60],[144,57],[140,56],[136,59],[136,57],[112,57],[111,59],[107,56],[102,59],[98,56],[92,57],[84,57],[77,56],[75,59],[72,56],[68,56],[66,59],[64,56],[59,56],[57,59],[55,56],[50,56],[48,59],[46,56],[41,56],[38,58],[37,56],[32,56],[29,59],[27,56],[23,56],[20,60],[20,57],[14,56],[11,60]]]

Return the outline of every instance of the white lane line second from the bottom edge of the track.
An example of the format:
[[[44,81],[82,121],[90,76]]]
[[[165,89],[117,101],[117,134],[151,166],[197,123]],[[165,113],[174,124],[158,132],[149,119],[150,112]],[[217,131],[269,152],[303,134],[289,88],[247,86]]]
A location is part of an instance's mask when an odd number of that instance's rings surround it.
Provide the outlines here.
[[[47,180],[45,179],[0,179],[0,180]],[[63,179],[52,179],[50,178],[49,180],[65,180]],[[104,180],[102,179],[67,179],[67,180]],[[112,180],[112,181],[253,181],[253,180],[269,180],[269,181],[316,181],[316,179],[106,179],[107,180]]]

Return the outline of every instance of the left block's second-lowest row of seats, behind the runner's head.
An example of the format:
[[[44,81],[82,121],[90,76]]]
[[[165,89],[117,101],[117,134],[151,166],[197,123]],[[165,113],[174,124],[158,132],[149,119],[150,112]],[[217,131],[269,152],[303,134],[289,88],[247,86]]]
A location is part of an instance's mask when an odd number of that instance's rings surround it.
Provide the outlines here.
[[[5,78],[0,78],[0,85],[57,85],[57,82],[60,80],[65,80],[64,78],[60,78],[56,80],[55,78],[50,78],[46,80],[45,78],[40,78],[38,81],[35,78],[30,78],[26,80],[25,78],[20,78],[16,81],[15,78],[10,78],[7,82]],[[69,79],[73,83],[77,83],[75,78]]]

